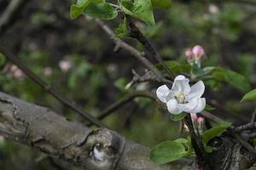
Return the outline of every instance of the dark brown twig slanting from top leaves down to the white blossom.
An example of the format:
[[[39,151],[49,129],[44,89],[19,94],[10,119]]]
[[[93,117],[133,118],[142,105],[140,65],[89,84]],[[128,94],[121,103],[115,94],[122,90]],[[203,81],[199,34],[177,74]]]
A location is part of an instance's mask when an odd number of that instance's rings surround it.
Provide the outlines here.
[[[128,27],[129,27],[129,32],[130,36],[133,38],[136,38],[137,41],[141,42],[144,46],[144,48],[148,51],[149,54],[151,54],[155,59],[158,60],[160,65],[164,67],[168,75],[174,79],[174,74],[170,70],[170,68],[166,65],[165,61],[160,57],[160,54],[155,50],[151,42],[149,42],[147,37],[143,36],[143,33],[137,28],[137,26],[134,25],[134,23],[131,20],[131,17],[129,15],[126,15]]]

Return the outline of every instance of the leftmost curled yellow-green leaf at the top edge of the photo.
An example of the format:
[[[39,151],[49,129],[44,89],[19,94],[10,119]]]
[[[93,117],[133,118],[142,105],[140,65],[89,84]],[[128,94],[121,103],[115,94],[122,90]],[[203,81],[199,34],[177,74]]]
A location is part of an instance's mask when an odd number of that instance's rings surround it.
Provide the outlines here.
[[[76,4],[73,4],[70,8],[70,17],[71,19],[76,19],[79,17],[80,14],[84,13],[85,8],[88,7],[88,5],[93,3],[103,3],[105,0],[78,0]]]

